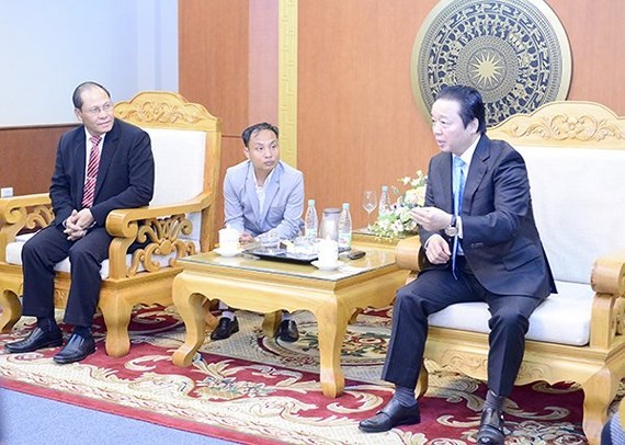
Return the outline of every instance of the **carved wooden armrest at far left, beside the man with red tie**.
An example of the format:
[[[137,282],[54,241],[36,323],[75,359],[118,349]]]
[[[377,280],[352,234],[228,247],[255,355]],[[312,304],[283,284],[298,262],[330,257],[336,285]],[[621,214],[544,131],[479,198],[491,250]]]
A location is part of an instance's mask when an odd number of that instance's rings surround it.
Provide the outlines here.
[[[0,261],[7,261],[7,244],[24,229],[48,226],[54,219],[47,193],[13,196],[0,199]]]

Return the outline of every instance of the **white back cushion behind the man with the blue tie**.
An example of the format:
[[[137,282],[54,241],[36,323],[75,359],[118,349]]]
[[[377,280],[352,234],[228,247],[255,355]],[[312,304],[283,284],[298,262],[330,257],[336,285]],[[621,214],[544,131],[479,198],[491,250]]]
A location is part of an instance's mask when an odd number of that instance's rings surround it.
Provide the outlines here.
[[[625,151],[515,146],[558,281],[590,283],[594,261],[625,248]]]

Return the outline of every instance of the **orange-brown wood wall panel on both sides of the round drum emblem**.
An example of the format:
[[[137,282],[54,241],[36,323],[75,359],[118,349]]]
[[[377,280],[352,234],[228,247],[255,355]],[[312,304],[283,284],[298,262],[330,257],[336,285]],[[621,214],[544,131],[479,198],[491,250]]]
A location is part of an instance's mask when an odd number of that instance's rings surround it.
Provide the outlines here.
[[[412,99],[412,44],[435,0],[299,2],[298,167],[321,206],[352,203],[364,226],[365,187],[425,170],[436,152]],[[613,0],[549,0],[572,52],[570,100],[625,114],[625,9]],[[607,45],[607,46],[606,46]],[[602,49],[606,48],[606,49]],[[610,48],[610,49],[607,49]]]

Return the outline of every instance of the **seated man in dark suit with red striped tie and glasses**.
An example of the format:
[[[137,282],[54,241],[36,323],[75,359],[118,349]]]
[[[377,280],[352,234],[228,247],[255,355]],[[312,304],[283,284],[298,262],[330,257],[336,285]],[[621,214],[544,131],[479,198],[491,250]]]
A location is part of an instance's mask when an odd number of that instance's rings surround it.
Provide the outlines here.
[[[23,313],[37,318],[24,339],[7,344],[11,353],[60,346],[54,317],[54,265],[69,256],[71,286],[64,321],[73,326],[56,363],[78,362],[95,351],[91,323],[112,237],[106,217],[116,208],[148,205],[155,164],[150,138],[140,128],[116,119],[106,89],[95,82],[78,85],[72,96],[82,123],[61,136],[50,185],[54,221],[22,249]]]

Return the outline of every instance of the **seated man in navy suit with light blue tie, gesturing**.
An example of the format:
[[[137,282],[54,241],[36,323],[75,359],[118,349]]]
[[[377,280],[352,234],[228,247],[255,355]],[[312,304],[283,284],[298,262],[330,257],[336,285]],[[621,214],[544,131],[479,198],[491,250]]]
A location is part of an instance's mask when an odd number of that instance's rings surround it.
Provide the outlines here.
[[[423,267],[397,293],[383,370],[395,395],[360,429],[419,423],[414,387],[428,316],[455,303],[486,301],[489,390],[478,443],[502,444],[503,401],[523,360],[529,318],[556,288],[534,224],[525,162],[509,144],[486,136],[479,92],[443,89],[432,105],[432,129],[442,152],[430,161],[425,206],[412,210]]]

